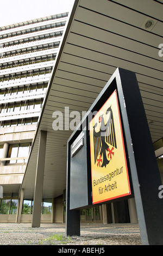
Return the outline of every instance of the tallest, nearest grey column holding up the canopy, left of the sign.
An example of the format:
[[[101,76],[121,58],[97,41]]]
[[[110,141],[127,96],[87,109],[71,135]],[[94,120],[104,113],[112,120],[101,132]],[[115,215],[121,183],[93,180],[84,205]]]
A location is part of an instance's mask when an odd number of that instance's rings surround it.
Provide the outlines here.
[[[41,221],[41,202],[43,191],[43,176],[45,167],[47,131],[40,132],[39,151],[37,156],[37,168],[35,177],[34,205],[32,216],[32,227],[40,227]]]

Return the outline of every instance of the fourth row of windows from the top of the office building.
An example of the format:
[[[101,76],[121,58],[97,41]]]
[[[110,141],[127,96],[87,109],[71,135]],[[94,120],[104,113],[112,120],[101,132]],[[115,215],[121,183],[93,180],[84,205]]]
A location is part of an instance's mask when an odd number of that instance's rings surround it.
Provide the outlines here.
[[[48,50],[52,48],[57,48],[60,44],[60,41],[58,42],[51,42],[49,44],[42,44],[42,45],[35,45],[31,47],[26,47],[18,50],[13,50],[13,51],[8,51],[8,52],[3,52],[0,55],[0,58],[6,58],[6,57],[11,57],[11,56],[16,56],[20,54],[26,54],[30,52],[36,52],[36,51],[43,51],[43,50]],[[9,65],[9,63],[3,63],[0,64],[0,69],[5,69],[5,66]]]

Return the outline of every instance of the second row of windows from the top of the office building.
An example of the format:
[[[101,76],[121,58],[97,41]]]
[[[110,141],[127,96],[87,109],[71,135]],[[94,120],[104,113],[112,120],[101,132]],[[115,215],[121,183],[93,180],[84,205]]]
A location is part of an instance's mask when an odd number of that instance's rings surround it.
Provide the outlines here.
[[[0,35],[0,40],[5,39],[5,38],[11,38],[13,36],[25,35],[25,34],[29,34],[29,33],[44,31],[46,29],[63,27],[63,26],[65,26],[65,24],[66,24],[66,21],[62,21],[62,22],[57,22],[57,23],[48,24],[48,25],[44,25],[44,26],[23,29],[22,31],[15,31],[15,32],[12,32],[12,33],[10,32],[10,33],[7,33],[7,34]]]

